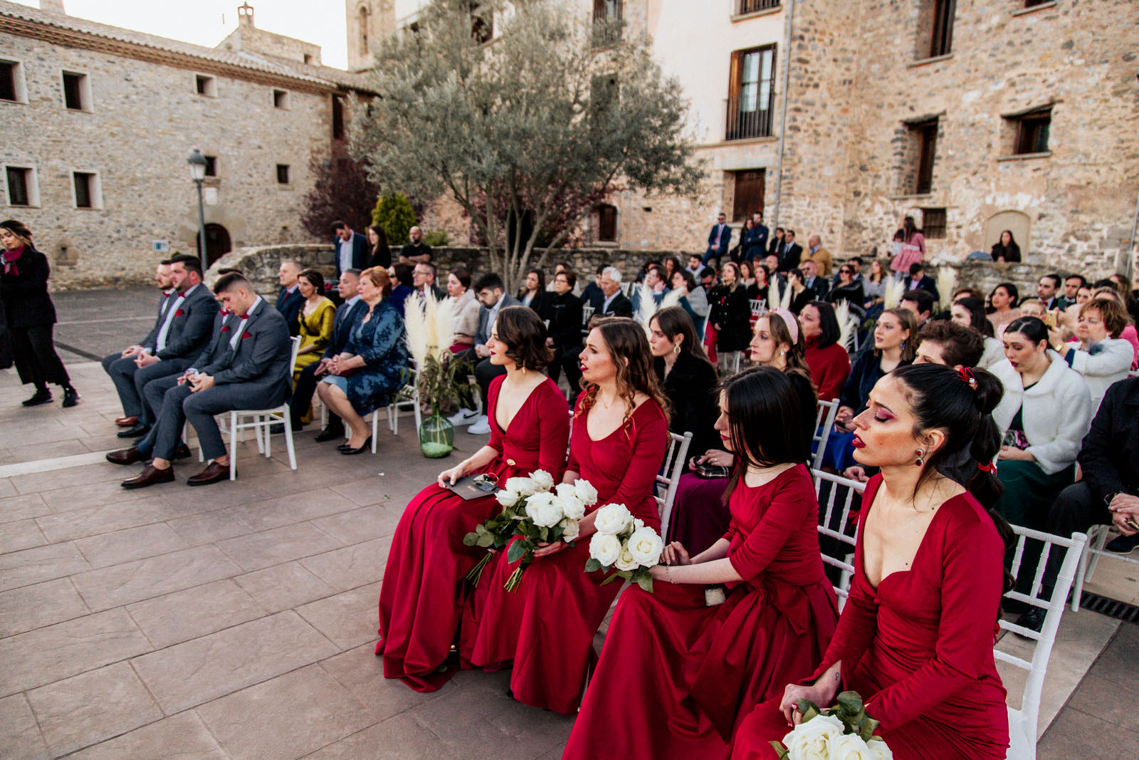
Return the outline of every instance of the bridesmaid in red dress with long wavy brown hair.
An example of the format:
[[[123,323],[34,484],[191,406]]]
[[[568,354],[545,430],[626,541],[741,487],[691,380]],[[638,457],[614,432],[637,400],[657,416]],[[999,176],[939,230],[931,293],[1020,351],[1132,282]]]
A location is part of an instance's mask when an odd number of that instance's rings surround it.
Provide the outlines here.
[[[464,613],[464,667],[495,669],[514,663],[510,690],[525,704],[573,713],[597,659],[593,635],[621,590],[600,586],[600,571],[585,573],[593,510],[624,504],[659,531],[653,482],[669,442],[666,402],[656,384],[645,329],[632,319],[596,322],[581,354],[585,390],[577,397],[570,461],[563,482],[588,480],[597,504],[581,521],[579,539],[534,553],[515,591],[502,588],[516,564],[500,551]]]

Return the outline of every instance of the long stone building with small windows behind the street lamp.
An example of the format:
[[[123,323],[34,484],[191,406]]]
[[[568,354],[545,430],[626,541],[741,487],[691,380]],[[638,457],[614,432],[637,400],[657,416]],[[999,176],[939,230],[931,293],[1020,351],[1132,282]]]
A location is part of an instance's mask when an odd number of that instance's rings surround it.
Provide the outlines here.
[[[0,0],[0,203],[52,262],[56,287],[144,281],[197,251],[187,157],[207,157],[210,259],[306,243],[309,161],[343,137],[367,77],[318,46],[259,30],[253,8],[206,48]]]

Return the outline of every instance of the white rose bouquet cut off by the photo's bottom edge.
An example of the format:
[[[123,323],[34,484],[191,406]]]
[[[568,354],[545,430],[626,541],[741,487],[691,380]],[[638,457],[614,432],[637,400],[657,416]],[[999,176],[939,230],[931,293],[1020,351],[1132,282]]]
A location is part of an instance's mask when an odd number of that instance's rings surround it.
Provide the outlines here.
[[[800,700],[798,710],[798,725],[781,744],[771,742],[780,760],[893,760],[894,753],[874,735],[878,721],[866,714],[858,692],[843,692],[825,710]]]

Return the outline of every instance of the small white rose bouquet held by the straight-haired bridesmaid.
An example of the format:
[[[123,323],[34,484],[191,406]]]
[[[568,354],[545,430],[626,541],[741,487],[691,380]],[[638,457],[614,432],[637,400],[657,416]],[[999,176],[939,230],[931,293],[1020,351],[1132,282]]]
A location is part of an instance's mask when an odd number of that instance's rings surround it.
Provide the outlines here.
[[[653,577],[648,571],[659,563],[664,551],[664,541],[656,531],[633,517],[623,504],[607,504],[599,508],[593,528],[597,532],[589,542],[585,572],[613,571],[601,586],[622,578],[652,593]]]

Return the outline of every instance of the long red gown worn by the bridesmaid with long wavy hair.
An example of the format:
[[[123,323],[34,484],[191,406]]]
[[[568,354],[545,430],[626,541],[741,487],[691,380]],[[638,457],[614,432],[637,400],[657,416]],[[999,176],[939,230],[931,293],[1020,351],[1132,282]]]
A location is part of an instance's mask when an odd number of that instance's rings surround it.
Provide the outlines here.
[[[566,468],[597,489],[597,509],[624,504],[661,530],[653,481],[669,442],[664,412],[652,399],[600,441],[589,438],[584,394],[577,398]],[[502,586],[517,563],[499,551],[464,612],[460,656],[465,668],[497,669],[514,662],[510,689],[525,704],[571,714],[581,702],[585,676],[597,655],[593,635],[621,583],[607,586],[600,572],[585,573],[589,540],[535,559],[514,591]]]

